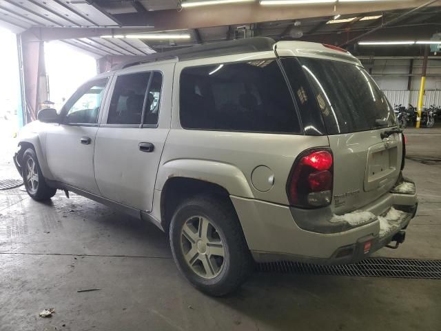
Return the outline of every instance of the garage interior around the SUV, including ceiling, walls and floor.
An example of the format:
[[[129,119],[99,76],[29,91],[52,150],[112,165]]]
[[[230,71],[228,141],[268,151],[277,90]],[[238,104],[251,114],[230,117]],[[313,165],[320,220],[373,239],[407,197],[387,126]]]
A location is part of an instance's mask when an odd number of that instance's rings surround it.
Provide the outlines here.
[[[441,1],[218,2],[0,0],[0,26],[17,34],[19,121],[34,121],[50,100],[47,43],[84,52],[105,72],[217,41],[314,41],[358,57],[392,106],[418,107],[421,98],[441,107]],[[433,128],[404,130],[418,213],[398,250],[373,255],[384,264],[365,272],[258,265],[225,298],[181,277],[167,234],[151,223],[76,194],[39,203],[23,186],[0,190],[0,330],[440,330],[440,123],[441,115]],[[0,180],[20,179],[16,132],[4,119],[0,132]],[[46,308],[50,319],[39,317]]]

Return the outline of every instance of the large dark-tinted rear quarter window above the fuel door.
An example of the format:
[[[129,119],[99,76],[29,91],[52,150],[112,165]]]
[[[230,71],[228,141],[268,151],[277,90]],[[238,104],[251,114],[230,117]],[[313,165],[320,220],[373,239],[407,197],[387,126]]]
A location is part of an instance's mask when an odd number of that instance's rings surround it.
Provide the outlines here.
[[[185,68],[180,99],[184,128],[300,131],[294,103],[275,60]]]

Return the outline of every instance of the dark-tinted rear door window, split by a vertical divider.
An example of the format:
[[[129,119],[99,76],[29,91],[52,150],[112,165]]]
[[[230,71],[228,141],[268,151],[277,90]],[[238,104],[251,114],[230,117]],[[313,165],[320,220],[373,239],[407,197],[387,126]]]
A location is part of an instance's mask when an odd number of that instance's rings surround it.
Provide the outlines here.
[[[145,104],[144,123],[157,124],[161,85],[160,72],[139,72],[119,76],[110,101],[107,123],[140,124]]]

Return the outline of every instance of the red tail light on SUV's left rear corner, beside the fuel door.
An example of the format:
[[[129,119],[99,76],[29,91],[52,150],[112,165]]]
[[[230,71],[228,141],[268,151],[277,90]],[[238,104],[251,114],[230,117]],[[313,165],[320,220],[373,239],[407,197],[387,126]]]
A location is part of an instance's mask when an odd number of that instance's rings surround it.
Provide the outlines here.
[[[329,205],[334,183],[331,150],[307,150],[294,163],[287,182],[289,203],[300,208]]]

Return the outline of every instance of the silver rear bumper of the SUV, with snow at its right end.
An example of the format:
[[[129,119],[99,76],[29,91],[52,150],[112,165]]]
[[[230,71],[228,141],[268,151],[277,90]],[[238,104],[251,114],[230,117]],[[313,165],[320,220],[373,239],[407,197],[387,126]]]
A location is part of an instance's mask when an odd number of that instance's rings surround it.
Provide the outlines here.
[[[415,193],[388,193],[367,207],[367,211],[377,215],[373,221],[342,232],[320,233],[300,228],[289,206],[231,198],[248,247],[259,262],[345,264],[360,261],[407,228],[418,207]]]

